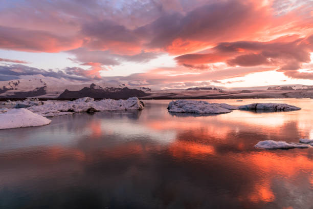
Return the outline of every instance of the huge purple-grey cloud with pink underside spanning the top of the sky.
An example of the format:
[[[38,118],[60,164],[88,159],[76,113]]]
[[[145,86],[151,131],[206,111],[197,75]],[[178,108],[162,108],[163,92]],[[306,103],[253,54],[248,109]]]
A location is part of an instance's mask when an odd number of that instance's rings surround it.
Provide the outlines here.
[[[186,54],[219,42],[268,38],[281,25],[292,31],[301,24],[305,27],[311,20],[303,16],[312,6],[302,5],[277,17],[271,4],[252,0],[106,4],[96,0],[33,0],[19,7],[7,3],[0,14],[0,47],[36,52],[84,47],[119,55],[135,55],[143,50]]]

